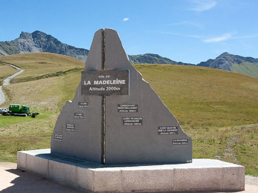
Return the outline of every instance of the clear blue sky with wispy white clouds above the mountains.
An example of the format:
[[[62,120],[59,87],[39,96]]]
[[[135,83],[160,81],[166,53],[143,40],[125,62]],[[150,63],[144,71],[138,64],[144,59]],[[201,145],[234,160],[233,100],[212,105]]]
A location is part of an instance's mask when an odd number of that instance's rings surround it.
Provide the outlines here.
[[[153,53],[197,64],[223,52],[258,58],[258,1],[0,0],[0,41],[21,31],[90,49],[100,28],[118,31],[129,55]]]

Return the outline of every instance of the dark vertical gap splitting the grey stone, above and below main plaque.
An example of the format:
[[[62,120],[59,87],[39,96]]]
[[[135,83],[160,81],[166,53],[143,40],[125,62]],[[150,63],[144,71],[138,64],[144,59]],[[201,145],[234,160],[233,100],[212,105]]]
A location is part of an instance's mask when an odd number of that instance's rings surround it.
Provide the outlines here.
[[[101,32],[101,70],[105,69],[105,31]],[[101,163],[105,163],[105,96],[101,96],[102,103],[102,128],[101,128]]]

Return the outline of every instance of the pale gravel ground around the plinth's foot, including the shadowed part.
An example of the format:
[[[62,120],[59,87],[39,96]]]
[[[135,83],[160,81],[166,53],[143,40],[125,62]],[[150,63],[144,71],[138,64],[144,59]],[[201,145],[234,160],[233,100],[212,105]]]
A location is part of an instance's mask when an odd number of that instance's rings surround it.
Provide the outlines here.
[[[17,170],[16,163],[0,162],[0,192],[3,193],[82,193],[45,178]],[[245,190],[239,193],[258,193],[258,177],[245,176]],[[195,193],[195,192],[192,192]]]

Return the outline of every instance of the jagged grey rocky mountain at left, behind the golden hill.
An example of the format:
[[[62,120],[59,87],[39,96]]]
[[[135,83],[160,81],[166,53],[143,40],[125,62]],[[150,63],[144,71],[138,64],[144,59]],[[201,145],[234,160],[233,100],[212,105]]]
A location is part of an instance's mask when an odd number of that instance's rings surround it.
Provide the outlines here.
[[[50,52],[85,61],[89,50],[69,46],[41,31],[21,32],[20,37],[15,40],[0,42],[0,55],[2,56],[27,52]]]

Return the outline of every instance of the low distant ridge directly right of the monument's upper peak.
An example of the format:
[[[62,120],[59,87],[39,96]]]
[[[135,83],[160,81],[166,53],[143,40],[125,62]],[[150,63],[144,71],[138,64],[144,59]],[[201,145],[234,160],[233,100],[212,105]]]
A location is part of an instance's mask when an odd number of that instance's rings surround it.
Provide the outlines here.
[[[134,64],[178,64],[178,65],[194,65],[182,62],[176,62],[169,58],[164,58],[158,54],[141,54],[141,55],[128,55],[131,63]]]

